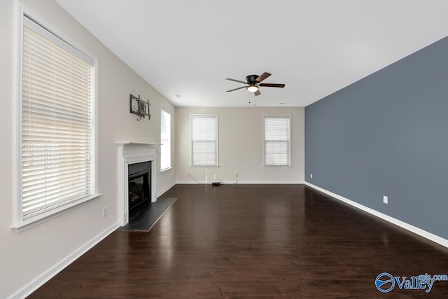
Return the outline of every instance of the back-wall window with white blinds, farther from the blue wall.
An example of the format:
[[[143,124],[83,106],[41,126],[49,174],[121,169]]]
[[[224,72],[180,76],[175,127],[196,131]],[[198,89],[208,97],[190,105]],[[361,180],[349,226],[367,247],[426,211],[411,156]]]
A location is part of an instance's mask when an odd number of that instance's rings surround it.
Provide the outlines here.
[[[218,115],[191,116],[191,165],[218,166]]]

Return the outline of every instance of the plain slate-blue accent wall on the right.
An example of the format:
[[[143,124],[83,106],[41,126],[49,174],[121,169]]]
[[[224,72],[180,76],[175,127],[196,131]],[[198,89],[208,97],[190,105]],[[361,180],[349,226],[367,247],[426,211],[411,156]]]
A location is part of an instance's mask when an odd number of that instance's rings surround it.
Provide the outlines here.
[[[305,180],[448,239],[448,38],[307,106]]]

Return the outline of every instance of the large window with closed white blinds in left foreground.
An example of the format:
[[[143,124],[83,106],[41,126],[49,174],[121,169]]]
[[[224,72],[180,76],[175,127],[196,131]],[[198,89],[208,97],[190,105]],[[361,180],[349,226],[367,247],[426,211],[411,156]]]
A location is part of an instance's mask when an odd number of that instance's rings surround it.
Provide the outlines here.
[[[94,60],[23,15],[17,227],[97,196]]]

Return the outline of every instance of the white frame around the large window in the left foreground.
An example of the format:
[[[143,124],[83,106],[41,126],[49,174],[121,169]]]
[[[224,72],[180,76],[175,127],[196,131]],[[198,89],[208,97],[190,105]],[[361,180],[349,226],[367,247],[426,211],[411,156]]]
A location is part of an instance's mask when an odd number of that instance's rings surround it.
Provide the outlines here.
[[[66,39],[64,34],[57,32],[54,26],[49,25],[47,22],[44,22],[42,18],[36,15],[34,12],[30,11],[26,6],[15,3],[16,5],[16,15],[15,15],[15,34],[14,34],[14,45],[15,45],[15,60],[14,60],[14,113],[13,117],[14,121],[14,196],[13,196],[13,225],[12,228],[17,230],[18,232],[22,230],[27,230],[28,228],[32,228],[35,225],[48,221],[52,218],[60,216],[62,214],[66,214],[67,212],[76,209],[83,204],[86,204],[90,200],[99,197],[102,195],[98,192],[98,145],[97,145],[97,137],[98,137],[98,127],[97,127],[97,99],[98,99],[98,90],[97,90],[97,78],[98,78],[98,60],[96,58],[92,58],[92,55],[88,53],[83,48],[76,45],[76,43],[72,43],[69,39]],[[92,184],[92,192],[91,194],[82,197],[78,200],[73,200],[71,202],[66,202],[62,205],[58,205],[57,207],[52,207],[50,209],[45,209],[45,211],[36,214],[34,216],[29,216],[24,218],[23,216],[23,202],[22,202],[22,74],[23,74],[23,32],[25,26],[25,18],[28,18],[32,22],[35,22],[38,26],[43,27],[43,30],[46,30],[50,37],[45,36],[46,39],[50,41],[55,41],[58,46],[64,48],[64,50],[68,50],[72,55],[76,55],[80,59],[84,59],[85,61],[92,63],[92,99],[91,99],[91,113],[92,113],[92,122],[91,122],[91,157],[92,161],[90,163],[91,168],[91,184]],[[66,45],[62,46],[62,45]],[[74,50],[71,50],[74,49]]]

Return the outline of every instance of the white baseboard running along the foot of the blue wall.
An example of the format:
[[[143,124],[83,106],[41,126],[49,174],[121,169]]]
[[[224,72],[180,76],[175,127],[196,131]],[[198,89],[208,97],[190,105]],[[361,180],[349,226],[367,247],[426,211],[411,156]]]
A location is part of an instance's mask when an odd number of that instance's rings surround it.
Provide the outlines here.
[[[325,193],[326,195],[330,195],[331,197],[334,197],[337,200],[340,200],[342,202],[345,202],[346,204],[350,204],[352,207],[356,207],[362,211],[365,211],[373,216],[377,216],[378,218],[381,218],[389,223],[395,224],[397,226],[400,226],[400,228],[404,228],[405,230],[409,230],[409,232],[414,232],[414,234],[419,235],[421,237],[424,237],[426,239],[429,239],[430,241],[433,241],[437,244],[440,244],[442,246],[445,246],[448,248],[448,239],[444,239],[442,237],[439,237],[437,235],[434,235],[433,233],[427,232],[426,230],[422,230],[421,228],[417,228],[414,225],[410,225],[409,223],[405,223],[401,220],[398,220],[397,218],[393,218],[391,216],[388,216],[386,214],[383,214],[377,210],[370,209],[369,207],[365,207],[363,204],[359,204],[358,202],[353,202],[353,200],[349,200],[346,197],[342,197],[341,195],[337,195],[336,193],[332,193],[328,190],[325,190],[321,187],[315,186],[312,183],[308,183],[307,181],[304,182],[305,185],[314,188],[318,191],[321,191],[322,193]]]

